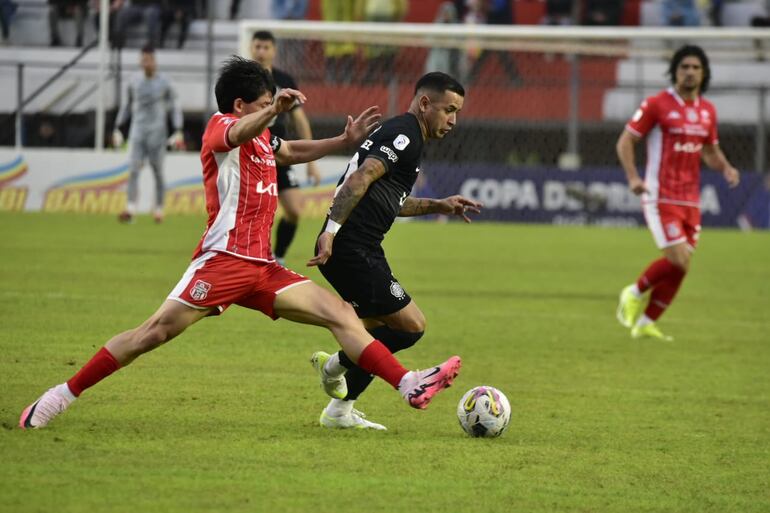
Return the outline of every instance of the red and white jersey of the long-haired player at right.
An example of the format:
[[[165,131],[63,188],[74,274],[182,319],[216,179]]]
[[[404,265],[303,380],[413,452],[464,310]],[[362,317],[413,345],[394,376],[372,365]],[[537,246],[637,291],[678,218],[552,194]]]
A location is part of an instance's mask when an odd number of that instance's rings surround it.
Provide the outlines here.
[[[718,144],[717,114],[711,102],[686,101],[673,88],[642,102],[626,130],[647,136],[648,194],[642,202],[698,206],[704,144]]]

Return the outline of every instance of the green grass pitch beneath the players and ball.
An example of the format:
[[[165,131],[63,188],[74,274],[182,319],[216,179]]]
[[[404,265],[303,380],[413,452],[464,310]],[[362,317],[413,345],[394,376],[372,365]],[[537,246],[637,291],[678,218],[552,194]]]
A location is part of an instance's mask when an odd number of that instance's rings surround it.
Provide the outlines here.
[[[320,428],[308,358],[334,340],[233,307],[47,429],[18,429],[28,403],[157,308],[203,224],[0,215],[0,511],[770,511],[768,233],[704,231],[662,343],[614,316],[658,255],[645,230],[397,224],[386,251],[428,319],[400,357],[464,361],[427,411],[375,381],[357,406],[388,432]],[[319,224],[301,226],[290,267],[305,271]],[[481,384],[513,407],[499,439],[455,418]]]

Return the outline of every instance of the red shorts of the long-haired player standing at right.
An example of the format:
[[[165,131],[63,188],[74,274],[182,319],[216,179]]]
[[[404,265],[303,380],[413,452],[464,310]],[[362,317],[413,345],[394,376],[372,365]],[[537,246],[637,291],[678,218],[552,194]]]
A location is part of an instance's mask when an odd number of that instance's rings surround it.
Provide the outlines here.
[[[700,209],[671,203],[645,203],[642,206],[647,227],[658,249],[686,242],[695,249],[700,235]]]

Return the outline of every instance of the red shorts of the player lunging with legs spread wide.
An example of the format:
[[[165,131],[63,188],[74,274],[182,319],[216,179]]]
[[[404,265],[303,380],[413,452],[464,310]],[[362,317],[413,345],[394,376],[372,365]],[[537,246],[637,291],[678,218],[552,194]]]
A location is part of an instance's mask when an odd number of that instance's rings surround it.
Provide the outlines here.
[[[199,310],[216,308],[215,314],[236,304],[277,319],[273,312],[275,296],[309,281],[275,262],[211,251],[190,263],[168,299]]]

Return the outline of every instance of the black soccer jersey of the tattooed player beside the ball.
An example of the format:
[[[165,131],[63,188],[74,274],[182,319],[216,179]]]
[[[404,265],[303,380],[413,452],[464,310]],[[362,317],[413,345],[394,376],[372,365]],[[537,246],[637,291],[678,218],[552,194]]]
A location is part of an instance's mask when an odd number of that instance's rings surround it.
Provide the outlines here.
[[[382,242],[417,181],[423,145],[420,124],[409,113],[387,120],[369,134],[348,163],[338,190],[367,158],[382,161],[385,174],[369,186],[337,233],[335,245],[377,246]]]

